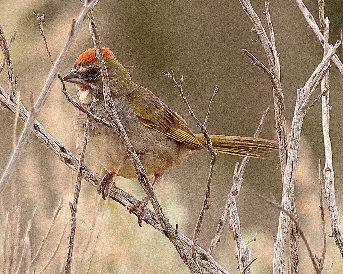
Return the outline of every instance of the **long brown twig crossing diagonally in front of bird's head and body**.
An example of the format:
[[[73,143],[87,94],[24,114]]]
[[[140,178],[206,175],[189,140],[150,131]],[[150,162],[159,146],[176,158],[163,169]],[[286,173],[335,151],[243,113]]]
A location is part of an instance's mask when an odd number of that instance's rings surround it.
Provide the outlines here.
[[[109,116],[111,117],[113,123],[118,128],[118,135],[123,142],[123,145],[128,153],[128,158],[133,164],[134,170],[137,174],[138,181],[141,184],[142,188],[144,189],[147,197],[151,201],[151,204],[156,212],[156,215],[158,217],[159,222],[161,223],[166,236],[170,239],[170,241],[174,244],[177,252],[180,254],[181,259],[186,263],[191,273],[197,273],[200,274],[200,266],[197,263],[196,260],[194,260],[189,253],[189,250],[185,247],[185,245],[182,243],[179,234],[175,234],[175,228],[173,225],[170,224],[168,218],[164,214],[161,205],[158,202],[158,199],[156,197],[155,191],[153,190],[153,187],[150,183],[149,177],[146,175],[144,167],[141,163],[141,161],[138,158],[138,155],[134,148],[131,145],[131,142],[125,132],[125,129],[123,125],[121,124],[115,104],[113,103],[113,100],[111,98],[110,90],[109,90],[109,81],[108,81],[108,75],[106,70],[106,65],[104,62],[104,56],[102,52],[101,47],[101,41],[99,34],[96,29],[96,25],[94,22],[94,17],[92,12],[88,14],[88,20],[90,25],[90,31],[93,38],[93,44],[95,48],[95,55],[99,61],[99,67],[100,72],[103,80],[103,92],[104,92],[104,101],[105,101],[105,109]]]

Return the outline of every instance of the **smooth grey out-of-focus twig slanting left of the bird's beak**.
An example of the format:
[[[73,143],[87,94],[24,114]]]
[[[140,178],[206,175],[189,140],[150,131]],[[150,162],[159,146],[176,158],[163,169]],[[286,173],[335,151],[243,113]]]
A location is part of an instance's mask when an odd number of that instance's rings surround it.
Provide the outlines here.
[[[40,110],[42,110],[43,105],[44,105],[46,99],[48,98],[48,96],[50,94],[52,85],[55,83],[56,76],[57,76],[57,73],[62,66],[62,61],[64,59],[64,56],[68,52],[69,48],[71,47],[72,42],[74,41],[77,33],[79,32],[80,27],[81,27],[81,23],[85,19],[85,15],[97,2],[98,2],[98,0],[93,0],[89,3],[87,2],[87,4],[84,6],[83,10],[80,12],[78,19],[73,21],[70,35],[69,35],[66,43],[64,44],[62,51],[60,52],[59,56],[57,57],[55,65],[52,67],[52,69],[49,72],[49,75],[46,79],[44,87],[43,87],[42,91],[40,92],[35,104],[33,105],[31,113],[28,117],[28,120],[23,127],[22,134],[21,134],[21,136],[17,142],[17,146],[16,146],[15,150],[12,152],[10,160],[8,161],[7,166],[5,167],[5,170],[2,174],[2,177],[0,179],[0,192],[3,192],[5,187],[8,185],[10,178],[14,174],[16,166],[20,161],[21,155],[23,154],[23,152],[26,148],[27,140],[28,140],[29,134],[31,132],[32,126],[34,125],[35,120],[36,120]],[[2,29],[1,29],[1,34],[3,34]],[[5,54],[7,54],[7,52],[4,49],[7,49],[7,45],[4,45],[3,39],[1,39],[1,41],[2,41],[1,47],[2,47],[2,49],[4,51],[4,55],[5,55]],[[8,51],[8,49],[7,49],[7,51]],[[7,59],[6,55],[5,55],[5,58]],[[12,83],[12,82],[15,83],[15,79],[13,79],[13,81],[12,80],[10,81],[10,83]],[[12,89],[12,94],[14,94],[16,96],[16,92],[14,91],[15,85],[11,85],[11,89]]]

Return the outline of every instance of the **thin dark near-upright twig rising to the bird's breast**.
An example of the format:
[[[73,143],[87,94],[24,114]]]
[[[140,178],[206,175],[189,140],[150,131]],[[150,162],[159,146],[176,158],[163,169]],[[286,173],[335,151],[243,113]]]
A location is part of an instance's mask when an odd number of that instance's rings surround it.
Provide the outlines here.
[[[93,98],[93,102],[94,102],[94,99],[95,98]],[[92,110],[92,104],[90,106],[90,110]],[[85,157],[86,147],[87,147],[89,123],[90,123],[90,118],[87,117],[86,126],[84,129],[83,146],[82,146],[82,150],[81,150],[81,154],[80,154],[80,158],[79,158],[78,172],[76,173],[74,200],[73,200],[73,204],[70,208],[72,220],[70,223],[69,249],[68,249],[68,256],[67,256],[66,269],[65,269],[66,274],[71,273],[71,262],[72,262],[72,256],[73,256],[74,238],[75,238],[75,231],[76,231],[76,220],[75,220],[75,218],[76,218],[76,212],[78,210],[78,201],[79,201],[79,195],[80,195],[80,190],[81,190],[83,163],[84,163],[84,157]]]

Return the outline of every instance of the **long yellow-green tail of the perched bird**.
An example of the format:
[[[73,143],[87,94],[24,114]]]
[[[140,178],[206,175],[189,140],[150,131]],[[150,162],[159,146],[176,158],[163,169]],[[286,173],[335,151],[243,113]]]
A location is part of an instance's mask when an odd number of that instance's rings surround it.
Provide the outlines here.
[[[205,145],[202,134],[194,135],[197,140]],[[214,150],[221,153],[269,160],[276,160],[279,157],[279,143],[277,141],[240,136],[210,136]]]

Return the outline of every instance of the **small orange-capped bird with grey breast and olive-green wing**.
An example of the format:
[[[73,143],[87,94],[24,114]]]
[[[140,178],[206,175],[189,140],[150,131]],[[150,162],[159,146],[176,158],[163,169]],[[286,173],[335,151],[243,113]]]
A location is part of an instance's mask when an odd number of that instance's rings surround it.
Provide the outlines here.
[[[170,167],[180,165],[189,154],[206,149],[206,142],[202,134],[193,134],[187,122],[152,91],[135,83],[113,51],[102,47],[102,52],[119,120],[146,174],[154,176],[155,186]],[[94,48],[85,50],[76,58],[70,73],[63,80],[75,84],[81,105],[89,109],[92,104],[95,115],[112,122],[105,109],[102,76]],[[75,110],[73,128],[77,146],[82,146],[86,119],[85,113]],[[225,135],[210,137],[213,149],[226,154],[275,160],[279,152],[278,142],[274,140]],[[117,132],[93,119],[90,120],[86,151],[108,172],[103,178],[106,184],[116,176],[137,178]],[[106,199],[109,189],[104,187],[102,192]]]

